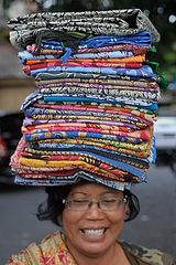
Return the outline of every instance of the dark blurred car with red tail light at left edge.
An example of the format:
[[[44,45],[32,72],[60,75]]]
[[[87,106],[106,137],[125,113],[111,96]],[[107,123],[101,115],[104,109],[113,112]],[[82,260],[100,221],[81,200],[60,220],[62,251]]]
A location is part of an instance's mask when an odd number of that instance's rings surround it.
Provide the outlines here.
[[[0,183],[13,183],[9,162],[21,138],[22,121],[22,113],[0,112]]]

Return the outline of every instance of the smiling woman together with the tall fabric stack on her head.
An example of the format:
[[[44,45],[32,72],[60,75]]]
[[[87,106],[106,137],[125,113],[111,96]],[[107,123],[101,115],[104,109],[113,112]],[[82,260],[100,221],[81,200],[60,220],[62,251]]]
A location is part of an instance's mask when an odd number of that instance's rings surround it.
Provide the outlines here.
[[[9,26],[36,83],[11,168],[16,184],[46,187],[37,218],[59,230],[7,265],[176,264],[119,241],[140,211],[131,188],[156,156],[161,78],[146,55],[157,30],[139,9],[33,13]]]

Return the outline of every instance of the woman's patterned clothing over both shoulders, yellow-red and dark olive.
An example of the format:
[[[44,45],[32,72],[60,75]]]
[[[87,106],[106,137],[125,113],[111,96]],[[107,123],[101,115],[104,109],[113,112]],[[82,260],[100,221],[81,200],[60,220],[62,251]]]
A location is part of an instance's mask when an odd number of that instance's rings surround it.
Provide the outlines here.
[[[174,258],[161,251],[124,242],[120,244],[132,265],[176,265]],[[77,263],[65,245],[64,236],[56,231],[38,245],[32,243],[18,255],[12,255],[6,265],[77,265]]]

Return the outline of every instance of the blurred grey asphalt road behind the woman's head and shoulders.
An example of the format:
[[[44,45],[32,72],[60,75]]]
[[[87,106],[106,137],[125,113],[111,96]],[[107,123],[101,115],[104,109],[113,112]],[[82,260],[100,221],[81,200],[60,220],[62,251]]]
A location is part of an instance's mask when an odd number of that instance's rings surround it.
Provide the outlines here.
[[[166,167],[152,167],[147,183],[133,188],[141,202],[136,220],[127,222],[121,237],[156,247],[176,256],[176,176]],[[0,265],[32,241],[56,230],[48,221],[37,221],[36,205],[45,200],[38,188],[0,189]]]

